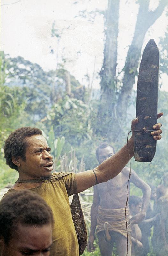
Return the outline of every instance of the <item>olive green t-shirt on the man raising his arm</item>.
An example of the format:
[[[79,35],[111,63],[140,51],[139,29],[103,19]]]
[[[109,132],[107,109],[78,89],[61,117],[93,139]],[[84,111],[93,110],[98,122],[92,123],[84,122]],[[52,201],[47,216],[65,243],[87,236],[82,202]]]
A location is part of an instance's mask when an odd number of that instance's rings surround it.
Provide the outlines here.
[[[45,180],[39,187],[29,190],[40,195],[53,212],[53,245],[50,256],[78,256],[79,245],[68,199],[68,196],[76,194],[75,174],[62,174],[65,176]],[[15,190],[10,188],[7,193],[12,191]]]

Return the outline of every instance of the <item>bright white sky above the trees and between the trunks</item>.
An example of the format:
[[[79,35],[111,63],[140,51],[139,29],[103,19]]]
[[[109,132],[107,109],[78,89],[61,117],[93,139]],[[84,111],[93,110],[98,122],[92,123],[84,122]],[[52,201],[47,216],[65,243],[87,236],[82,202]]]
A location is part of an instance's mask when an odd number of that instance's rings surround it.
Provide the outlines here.
[[[63,54],[68,60],[66,68],[82,83],[86,72],[92,76],[95,57],[95,70],[101,69],[104,20],[103,16],[98,16],[93,24],[80,17],[74,17],[86,8],[88,10],[106,9],[107,0],[91,0],[90,2],[80,0],[79,4],[75,5],[74,1],[1,0],[1,50],[6,54],[9,53],[11,57],[20,55],[26,60],[36,62],[45,70],[55,69],[57,41],[55,37],[51,37],[51,27],[55,20],[56,28],[60,31],[64,28],[59,44],[59,60]],[[151,7],[157,2],[158,0],[151,0]],[[137,12],[138,6],[135,0],[120,1],[118,37],[118,68],[120,70],[124,65],[128,45],[132,40]],[[167,24],[168,17],[164,12],[146,34],[143,49],[151,38],[154,38],[158,44],[159,37],[164,36]],[[50,54],[50,46],[55,50],[53,55]],[[78,51],[81,55],[77,57]],[[167,78],[164,75],[162,81],[162,89],[166,91],[168,91]],[[93,86],[98,87],[98,82],[95,80]]]

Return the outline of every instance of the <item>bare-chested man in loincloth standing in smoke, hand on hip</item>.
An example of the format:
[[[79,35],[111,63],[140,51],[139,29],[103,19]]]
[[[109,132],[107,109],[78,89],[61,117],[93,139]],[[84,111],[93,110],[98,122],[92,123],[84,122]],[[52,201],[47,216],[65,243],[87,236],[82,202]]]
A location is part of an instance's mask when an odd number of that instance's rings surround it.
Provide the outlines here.
[[[103,143],[96,150],[99,163],[114,154],[113,146]],[[115,242],[118,255],[125,256],[127,251],[127,232],[125,222],[125,205],[127,200],[127,183],[129,168],[124,169],[113,179],[106,183],[94,186],[93,204],[91,207],[91,232],[88,240],[88,250],[94,249],[95,230],[97,226],[97,236],[102,256],[112,256],[113,244]],[[150,201],[151,188],[138,175],[131,170],[130,181],[143,192],[142,211],[133,218],[136,223],[144,219]],[[131,255],[130,244],[130,218],[127,207],[128,222],[128,256]],[[134,222],[134,223],[135,223]]]

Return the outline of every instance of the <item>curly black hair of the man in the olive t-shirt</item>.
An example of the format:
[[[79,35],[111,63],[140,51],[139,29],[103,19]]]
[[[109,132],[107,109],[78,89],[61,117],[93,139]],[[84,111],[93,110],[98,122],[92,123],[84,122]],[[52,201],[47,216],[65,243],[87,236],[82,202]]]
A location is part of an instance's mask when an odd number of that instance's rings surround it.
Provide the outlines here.
[[[38,128],[21,127],[9,135],[4,146],[4,158],[9,167],[18,171],[18,167],[12,162],[12,156],[20,156],[25,161],[25,152],[28,146],[25,138],[37,134],[42,135],[42,131]]]

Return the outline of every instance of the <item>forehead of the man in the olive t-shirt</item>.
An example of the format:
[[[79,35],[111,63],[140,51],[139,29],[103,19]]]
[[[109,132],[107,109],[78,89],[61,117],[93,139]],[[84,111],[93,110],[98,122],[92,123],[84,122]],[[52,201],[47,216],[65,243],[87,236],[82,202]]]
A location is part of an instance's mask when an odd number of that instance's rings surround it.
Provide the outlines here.
[[[27,147],[48,147],[47,140],[40,134],[26,137]]]

